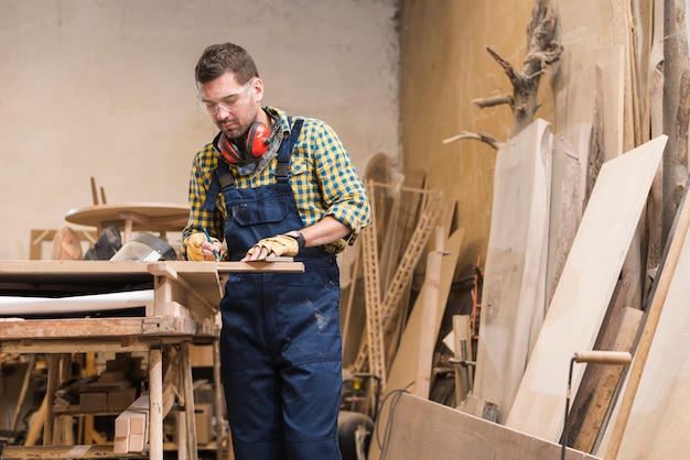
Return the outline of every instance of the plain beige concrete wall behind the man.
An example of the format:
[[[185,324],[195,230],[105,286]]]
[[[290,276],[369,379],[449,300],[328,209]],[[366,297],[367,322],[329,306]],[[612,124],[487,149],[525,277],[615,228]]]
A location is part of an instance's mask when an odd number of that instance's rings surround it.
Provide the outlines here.
[[[0,0],[0,260],[31,229],[93,204],[186,202],[194,153],[215,133],[194,65],[231,41],[255,57],[265,102],[322,118],[358,171],[398,162],[396,0]],[[75,229],[82,229],[73,226]]]

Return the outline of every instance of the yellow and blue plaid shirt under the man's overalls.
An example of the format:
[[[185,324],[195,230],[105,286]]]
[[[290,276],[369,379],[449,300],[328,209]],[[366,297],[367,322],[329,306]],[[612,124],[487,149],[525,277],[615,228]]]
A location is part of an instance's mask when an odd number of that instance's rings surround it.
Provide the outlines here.
[[[237,188],[277,183],[277,152],[290,133],[290,124],[285,112],[271,107],[267,107],[266,111],[274,121],[269,150],[256,165],[230,165]],[[216,209],[213,212],[203,209],[218,162],[219,153],[213,142],[194,156],[190,177],[190,220],[182,231],[182,253],[185,256],[186,240],[192,233],[203,233],[206,229],[220,241],[225,237],[227,211],[223,191],[216,197]],[[352,230],[347,239],[325,245],[326,251],[339,253],[348,244],[354,244],[362,229],[370,222],[365,186],[337,134],[323,121],[304,119],[290,157],[289,182],[304,227],[316,223],[325,216],[333,216]],[[285,229],[289,230],[292,229]]]

